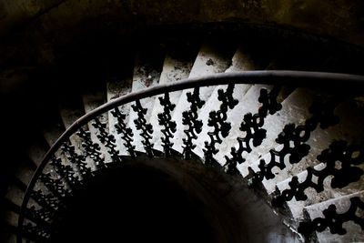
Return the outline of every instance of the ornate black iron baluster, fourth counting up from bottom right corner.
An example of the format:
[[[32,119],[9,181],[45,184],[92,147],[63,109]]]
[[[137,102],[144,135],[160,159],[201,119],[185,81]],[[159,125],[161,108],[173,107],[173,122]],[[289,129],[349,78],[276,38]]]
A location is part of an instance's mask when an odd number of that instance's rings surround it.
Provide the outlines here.
[[[240,125],[240,131],[246,132],[246,136],[238,137],[238,149],[231,147],[231,158],[225,157],[227,160],[225,167],[227,167],[228,174],[238,173],[237,165],[244,163],[246,160],[243,157],[244,153],[250,153],[252,151],[250,143],[252,143],[254,147],[258,147],[263,142],[263,139],[266,138],[267,131],[262,128],[264,126],[265,118],[268,114],[274,115],[282,108],[282,105],[277,101],[279,91],[280,86],[274,86],[270,92],[265,88],[260,89],[258,102],[261,103],[262,106],[259,107],[257,114],[252,115],[251,113],[248,113],[244,116]]]

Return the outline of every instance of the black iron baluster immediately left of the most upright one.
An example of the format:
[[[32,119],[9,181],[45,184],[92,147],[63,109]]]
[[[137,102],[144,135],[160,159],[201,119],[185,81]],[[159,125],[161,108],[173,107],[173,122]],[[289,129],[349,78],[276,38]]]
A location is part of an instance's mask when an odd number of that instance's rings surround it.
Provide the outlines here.
[[[136,105],[131,106],[133,110],[137,113],[137,118],[134,120],[137,130],[141,130],[140,136],[143,137],[142,144],[146,149],[148,157],[154,157],[153,144],[150,143],[152,139],[153,127],[151,124],[147,123],[145,116],[147,115],[147,108],[143,108],[140,104],[140,100],[136,100]]]

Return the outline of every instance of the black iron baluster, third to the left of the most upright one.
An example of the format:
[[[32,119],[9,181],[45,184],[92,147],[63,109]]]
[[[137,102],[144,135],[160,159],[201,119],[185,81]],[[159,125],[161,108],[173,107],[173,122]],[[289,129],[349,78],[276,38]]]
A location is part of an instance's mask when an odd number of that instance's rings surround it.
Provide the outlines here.
[[[116,139],[112,134],[106,132],[106,124],[100,122],[98,118],[94,119],[95,122],[92,123],[92,126],[98,129],[99,135],[97,138],[100,140],[101,143],[108,148],[108,153],[111,156],[113,162],[121,162],[121,157],[119,156],[119,152],[115,149],[116,148]]]

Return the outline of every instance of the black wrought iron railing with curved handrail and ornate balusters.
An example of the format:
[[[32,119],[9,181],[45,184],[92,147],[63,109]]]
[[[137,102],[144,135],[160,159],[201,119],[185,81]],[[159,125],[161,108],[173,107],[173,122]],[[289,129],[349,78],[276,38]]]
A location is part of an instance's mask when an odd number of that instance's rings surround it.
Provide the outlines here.
[[[197,119],[197,110],[204,105],[204,101],[199,98],[199,87],[202,86],[218,86],[227,85],[226,91],[219,90],[218,100],[221,106],[217,111],[211,111],[209,115],[208,126],[213,127],[214,131],[208,133],[210,141],[205,143],[204,154],[205,164],[208,165],[214,162],[214,155],[217,153],[216,144],[221,143],[224,137],[231,128],[227,122],[227,110],[237,106],[238,100],[233,97],[234,86],[238,84],[266,84],[275,86],[270,92],[262,90],[259,102],[262,106],[258,110],[258,114],[248,114],[244,116],[242,114],[242,125],[240,129],[247,132],[247,137],[238,138],[238,149],[231,148],[232,158],[227,157],[227,173],[236,173],[236,166],[244,163],[244,157],[241,157],[243,151],[251,151],[249,147],[250,140],[254,147],[261,144],[265,137],[265,131],[262,129],[264,119],[268,114],[276,113],[281,105],[277,102],[278,87],[279,86],[292,86],[292,87],[312,87],[315,89],[322,89],[325,91],[331,90],[339,95],[343,94],[359,94],[362,95],[362,88],[364,86],[364,76],[345,75],[345,74],[331,74],[331,73],[317,73],[317,72],[301,72],[301,71],[248,71],[239,73],[224,73],[215,76],[205,76],[198,78],[190,78],[175,83],[169,83],[166,85],[159,85],[147,88],[145,90],[131,93],[126,96],[118,97],[103,106],[99,106],[92,112],[87,113],[85,116],[80,117],[76,122],[68,127],[65,133],[59,137],[56,143],[45,154],[43,161],[39,167],[35,170],[35,174],[30,181],[26,191],[23,204],[21,206],[19,218],[18,218],[18,236],[17,242],[22,242],[23,238],[34,238],[46,240],[50,237],[48,228],[52,224],[52,218],[56,216],[56,211],[59,208],[65,207],[63,205],[63,198],[72,196],[72,189],[76,187],[78,183],[86,177],[91,177],[93,171],[90,167],[86,166],[86,157],[90,158],[96,166],[96,169],[102,169],[107,167],[107,163],[104,160],[102,151],[97,143],[95,143],[91,137],[89,131],[84,126],[90,121],[93,121],[93,126],[98,130],[98,139],[105,145],[106,152],[110,155],[112,162],[122,163],[123,158],[119,155],[120,151],[116,150],[116,139],[113,135],[106,131],[106,125],[101,123],[98,116],[106,112],[111,112],[112,116],[116,118],[116,131],[121,135],[121,139],[126,147],[126,152],[130,157],[136,157],[135,147],[132,143],[133,132],[130,127],[126,126],[125,114],[122,114],[117,108],[130,103],[133,110],[137,113],[135,120],[136,129],[140,131],[140,136],[143,137],[143,146],[146,150],[147,156],[155,156],[153,145],[151,144],[153,127],[147,123],[145,119],[146,109],[140,104],[140,100],[143,98],[159,96],[157,101],[163,106],[163,112],[158,114],[159,125],[163,127],[161,133],[163,137],[162,147],[164,150],[164,156],[170,156],[173,153],[171,138],[176,131],[176,122],[171,119],[171,112],[175,108],[175,104],[171,104],[169,100],[169,93],[178,90],[184,90],[187,88],[194,88],[193,92],[187,93],[187,101],[190,106],[186,107],[187,110],[183,113],[182,123],[187,127],[185,130],[186,138],[184,139],[184,152],[185,159],[193,157],[193,148],[196,146],[194,140],[197,138],[197,134],[201,131],[203,122]],[[327,111],[330,106],[325,104],[319,106],[319,109]],[[292,156],[291,163],[298,163],[302,157],[305,157],[308,153],[305,148],[305,141],[309,137],[310,131],[314,129],[319,122],[321,125],[325,121],[322,113],[319,109],[313,111],[313,116],[308,120],[307,124],[303,127],[285,127],[285,136],[280,136],[278,143],[283,146],[287,145],[287,148],[280,151],[271,150],[274,155],[272,159],[276,157],[285,157],[286,154]],[[331,120],[332,122],[333,120]],[[329,126],[330,122],[326,123]],[[305,132],[304,137],[299,137],[301,132]],[[69,143],[71,136],[80,137],[83,140],[83,154],[78,154]],[[296,138],[295,138],[296,136]],[[293,141],[295,148],[289,146],[289,142]],[[62,159],[56,157],[56,153],[62,151],[66,156],[67,163],[62,163]],[[52,167],[54,170],[50,171]],[[282,161],[270,161],[266,163],[261,161],[260,172],[253,173],[253,177],[250,177],[250,185],[255,185],[262,181],[263,178],[271,178],[274,175],[271,173],[272,167],[284,167]],[[49,172],[50,171],[50,172]],[[311,173],[315,174],[314,170]],[[323,173],[323,172],[322,172]],[[321,174],[322,174],[321,173]],[[326,177],[323,175],[322,177]],[[321,176],[319,176],[321,177]],[[37,185],[43,185],[38,187]],[[297,182],[296,182],[297,184]],[[301,187],[301,183],[298,187]],[[310,186],[309,183],[308,187]],[[41,188],[45,188],[46,192]],[[303,187],[303,186],[302,186]],[[313,186],[312,186],[313,187]],[[319,186],[318,186],[319,187]],[[273,205],[281,205],[285,200],[289,200],[291,197],[299,197],[297,191],[291,192],[285,191],[282,196],[275,198]],[[31,202],[34,201],[35,203]]]

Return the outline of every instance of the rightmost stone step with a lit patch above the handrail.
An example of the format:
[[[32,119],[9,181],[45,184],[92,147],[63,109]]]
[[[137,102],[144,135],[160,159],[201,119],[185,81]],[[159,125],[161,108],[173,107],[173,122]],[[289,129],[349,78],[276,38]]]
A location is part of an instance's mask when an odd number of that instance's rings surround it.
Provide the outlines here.
[[[257,50],[256,50],[257,51]],[[239,72],[239,71],[248,71],[248,70],[257,70],[261,69],[260,63],[258,61],[258,56],[254,56],[254,50],[247,50],[247,48],[243,46],[239,46],[237,52],[234,54],[232,58],[232,64],[225,72]],[[257,58],[257,59],[256,59]],[[240,102],[245,94],[248,92],[248,89],[251,85],[236,85],[234,87],[233,96],[235,99]],[[209,118],[209,113],[213,110],[219,110],[221,106],[221,102],[218,100],[218,90],[223,89],[224,92],[227,89],[227,86],[216,86],[211,96],[208,98],[207,103],[204,107],[199,110],[198,119],[202,121],[207,121]],[[207,124],[202,127],[202,132],[199,134],[196,145],[197,147],[194,149],[195,154],[199,157],[204,157],[203,149],[205,149],[205,141],[210,141],[207,133],[212,132],[214,130],[213,127],[208,127]]]

